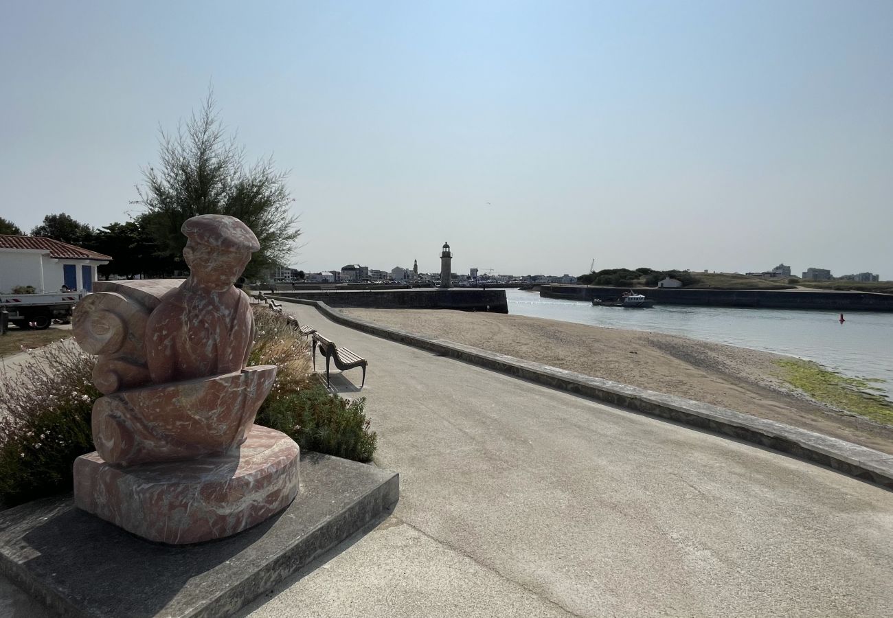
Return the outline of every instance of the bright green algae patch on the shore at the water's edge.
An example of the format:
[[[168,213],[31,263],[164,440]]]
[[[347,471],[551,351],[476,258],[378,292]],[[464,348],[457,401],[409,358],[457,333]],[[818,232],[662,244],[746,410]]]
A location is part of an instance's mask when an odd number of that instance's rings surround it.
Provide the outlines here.
[[[884,380],[849,378],[813,361],[782,359],[774,363],[781,369],[782,380],[815,400],[884,425],[893,425],[893,402],[887,397],[869,392],[878,390],[872,384]]]

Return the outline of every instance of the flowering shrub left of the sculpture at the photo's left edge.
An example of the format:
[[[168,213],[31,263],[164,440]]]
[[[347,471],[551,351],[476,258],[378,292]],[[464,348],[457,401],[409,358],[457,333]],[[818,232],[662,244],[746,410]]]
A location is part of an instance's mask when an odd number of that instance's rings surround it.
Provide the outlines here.
[[[96,357],[60,341],[0,379],[0,501],[16,505],[71,489],[71,464],[94,450]]]

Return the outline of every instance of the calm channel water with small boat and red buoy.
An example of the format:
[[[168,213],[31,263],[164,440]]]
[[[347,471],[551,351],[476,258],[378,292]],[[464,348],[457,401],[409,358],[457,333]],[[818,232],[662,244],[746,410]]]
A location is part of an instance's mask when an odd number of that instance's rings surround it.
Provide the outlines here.
[[[594,307],[506,289],[509,313],[613,329],[650,330],[807,358],[848,376],[880,378],[893,397],[893,313],[655,305]]]

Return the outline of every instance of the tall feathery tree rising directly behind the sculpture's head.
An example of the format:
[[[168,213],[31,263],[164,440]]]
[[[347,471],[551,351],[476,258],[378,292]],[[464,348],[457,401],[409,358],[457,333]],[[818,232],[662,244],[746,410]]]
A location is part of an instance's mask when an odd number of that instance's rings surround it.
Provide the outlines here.
[[[246,167],[245,150],[226,137],[212,92],[176,134],[162,130],[159,142],[159,165],[143,170],[144,185],[137,190],[161,255],[181,260],[186,238],[179,229],[189,217],[229,214],[244,221],[261,244],[246,277],[291,261],[301,230],[291,213],[288,171],[276,171],[272,158]]]

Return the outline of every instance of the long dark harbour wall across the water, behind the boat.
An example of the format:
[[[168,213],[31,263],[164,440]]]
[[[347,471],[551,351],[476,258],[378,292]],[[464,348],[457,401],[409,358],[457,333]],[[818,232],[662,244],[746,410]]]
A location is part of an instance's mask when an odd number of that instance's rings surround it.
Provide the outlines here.
[[[893,295],[871,292],[807,291],[799,289],[686,289],[603,288],[597,286],[544,285],[539,296],[586,300],[609,300],[632,289],[663,305],[750,307],[764,309],[822,309],[824,311],[893,312]]]

